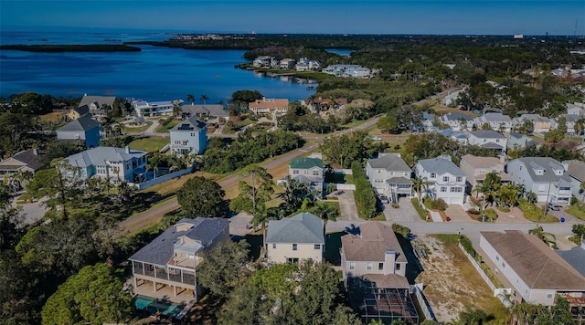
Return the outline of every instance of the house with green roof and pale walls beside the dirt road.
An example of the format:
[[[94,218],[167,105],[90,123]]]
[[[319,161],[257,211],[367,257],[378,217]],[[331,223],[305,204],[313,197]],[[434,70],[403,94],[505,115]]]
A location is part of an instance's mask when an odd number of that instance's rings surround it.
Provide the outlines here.
[[[289,164],[289,176],[297,182],[308,183],[309,188],[323,195],[325,174],[321,158],[293,158]]]

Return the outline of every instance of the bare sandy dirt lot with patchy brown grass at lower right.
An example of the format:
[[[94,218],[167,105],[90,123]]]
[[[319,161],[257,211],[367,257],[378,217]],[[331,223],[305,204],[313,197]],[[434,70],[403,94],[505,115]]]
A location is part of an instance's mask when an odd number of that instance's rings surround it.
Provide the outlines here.
[[[457,320],[466,306],[483,309],[495,320],[504,319],[505,307],[463,255],[458,239],[457,235],[419,236],[413,242],[427,253],[426,258],[420,257],[424,271],[416,282],[424,284],[423,292],[437,319]]]

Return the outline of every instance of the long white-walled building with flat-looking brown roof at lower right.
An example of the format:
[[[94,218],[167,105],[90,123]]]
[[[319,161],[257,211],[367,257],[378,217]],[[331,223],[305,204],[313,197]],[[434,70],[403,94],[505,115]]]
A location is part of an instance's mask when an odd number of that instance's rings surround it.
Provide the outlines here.
[[[536,235],[518,230],[480,232],[480,248],[510,299],[552,306],[557,295],[585,304],[585,278]]]

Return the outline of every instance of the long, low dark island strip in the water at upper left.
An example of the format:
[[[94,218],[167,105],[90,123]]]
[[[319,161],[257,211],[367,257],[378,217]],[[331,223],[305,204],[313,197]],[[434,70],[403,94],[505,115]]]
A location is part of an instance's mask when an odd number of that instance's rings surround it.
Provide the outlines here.
[[[140,52],[140,47],[122,44],[74,44],[74,45],[3,45],[0,49],[16,49],[28,52]]]

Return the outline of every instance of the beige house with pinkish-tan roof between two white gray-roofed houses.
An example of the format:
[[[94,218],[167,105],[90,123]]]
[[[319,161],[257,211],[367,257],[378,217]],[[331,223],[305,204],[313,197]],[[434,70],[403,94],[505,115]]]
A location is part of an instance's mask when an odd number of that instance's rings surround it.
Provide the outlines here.
[[[465,174],[467,182],[471,187],[477,186],[485,180],[485,175],[488,173],[497,173],[502,180],[502,183],[512,182],[512,177],[505,173],[504,157],[479,157],[473,154],[466,154],[461,157],[459,168]],[[471,190],[471,189],[470,189]]]

